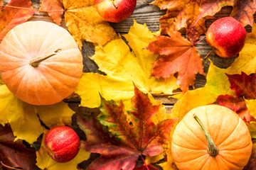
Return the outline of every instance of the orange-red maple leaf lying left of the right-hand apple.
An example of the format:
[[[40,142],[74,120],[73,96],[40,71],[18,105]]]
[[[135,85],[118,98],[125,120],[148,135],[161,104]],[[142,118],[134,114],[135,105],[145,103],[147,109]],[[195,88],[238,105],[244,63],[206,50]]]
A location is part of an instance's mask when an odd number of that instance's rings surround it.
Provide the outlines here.
[[[156,40],[146,47],[154,55],[160,55],[154,62],[152,75],[156,78],[167,79],[178,72],[177,84],[182,91],[187,91],[188,86],[193,86],[196,74],[205,75],[203,72],[203,60],[198,55],[196,47],[181,33],[167,30],[170,37],[156,36]]]

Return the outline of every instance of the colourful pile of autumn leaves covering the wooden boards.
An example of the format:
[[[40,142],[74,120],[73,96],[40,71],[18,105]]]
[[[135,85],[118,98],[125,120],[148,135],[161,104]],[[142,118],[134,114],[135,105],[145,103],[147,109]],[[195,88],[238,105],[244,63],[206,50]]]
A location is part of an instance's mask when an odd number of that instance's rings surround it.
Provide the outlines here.
[[[235,18],[244,25],[252,26],[255,11],[249,12],[246,3],[241,4],[240,1],[225,2],[226,5],[234,6],[232,15]],[[185,0],[156,0],[153,4],[161,9],[168,9],[166,15],[160,19],[160,23],[161,33],[169,36],[160,35],[160,32],[151,33],[146,25],[134,21],[134,26],[130,28],[127,35],[124,35],[127,44],[119,38],[109,23],[97,15],[97,11],[93,8],[93,1],[43,1],[42,10],[60,11],[59,13],[48,12],[58,25],[60,25],[61,16],[65,13],[66,26],[80,48],[84,40],[95,44],[95,55],[91,59],[105,74],[83,73],[75,93],[81,98],[81,107],[100,108],[100,115],[97,115],[97,118],[75,115],[80,129],[87,136],[87,141],[82,142],[83,149],[80,149],[77,157],[71,162],[64,164],[54,162],[48,157],[43,146],[37,150],[36,155],[33,155],[31,150],[28,152],[23,147],[22,143],[17,144],[19,154],[14,156],[11,155],[14,148],[6,148],[6,140],[0,140],[1,149],[11,157],[11,160],[3,160],[3,162],[23,169],[35,169],[35,164],[40,169],[75,169],[80,162],[90,157],[90,152],[94,152],[100,153],[101,156],[92,162],[88,169],[95,169],[95,166],[98,168],[99,165],[106,167],[106,164],[112,169],[120,169],[124,164],[129,165],[127,169],[134,169],[138,158],[142,155],[148,156],[145,162],[151,169],[153,167],[150,164],[164,157],[167,157],[167,162],[159,165],[163,169],[176,169],[169,145],[165,148],[162,145],[169,140],[176,118],[186,115],[192,108],[210,103],[218,103],[238,113],[247,123],[252,138],[255,139],[256,26],[252,27],[252,33],[247,34],[245,47],[228,69],[220,69],[210,63],[206,86],[188,91],[188,87],[193,86],[195,82],[196,74],[204,75],[203,60],[198,55],[194,44],[199,36],[205,33],[206,19],[220,11],[222,3],[223,1],[217,1],[215,4],[210,4],[213,10],[206,11],[204,9],[209,4],[206,6],[203,1],[198,4],[199,7],[196,7],[196,4],[187,4]],[[247,4],[253,6],[250,3]],[[28,0],[11,0],[9,3],[11,6],[21,4],[32,8],[31,1]],[[177,13],[174,15],[176,9],[179,10],[178,15]],[[34,13],[31,10],[17,11],[14,8],[2,10],[0,15],[6,19],[0,21],[1,39],[14,26],[10,13],[23,18],[21,22],[25,22]],[[247,17],[250,20],[245,21],[246,17],[239,15],[239,11],[245,11],[244,15],[250,16]],[[80,18],[79,21],[78,18]],[[181,18],[186,19],[181,20]],[[80,27],[76,25],[78,22]],[[189,40],[177,32],[181,28],[186,28],[186,36]],[[87,33],[82,34],[80,30],[85,29]],[[92,30],[97,33],[92,34],[90,32]],[[162,48],[167,50],[161,50]],[[190,62],[191,59],[193,62]],[[164,62],[169,64],[163,67]],[[191,72],[192,66],[193,72]],[[176,73],[178,76],[175,76]],[[178,88],[184,93],[175,96],[178,102],[172,109],[171,115],[166,114],[164,106],[161,102],[154,101],[151,94],[171,95]],[[57,125],[71,125],[71,117],[75,112],[68,107],[67,103],[32,106],[18,100],[3,83],[0,89],[0,123],[2,125],[9,123],[17,142],[21,140],[30,144],[36,142],[41,134],[47,132],[45,126],[53,128]],[[7,125],[2,129],[6,133],[1,135],[8,136],[7,142],[14,140],[14,137],[10,137],[7,133],[11,132]],[[123,132],[131,133],[123,134]],[[161,154],[162,152],[164,154]],[[252,152],[252,156],[254,154],[255,152]],[[33,158],[26,155],[32,155]],[[31,161],[35,157],[36,161]],[[26,161],[21,162],[21,160]],[[254,160],[250,159],[245,169],[252,169],[253,162]]]

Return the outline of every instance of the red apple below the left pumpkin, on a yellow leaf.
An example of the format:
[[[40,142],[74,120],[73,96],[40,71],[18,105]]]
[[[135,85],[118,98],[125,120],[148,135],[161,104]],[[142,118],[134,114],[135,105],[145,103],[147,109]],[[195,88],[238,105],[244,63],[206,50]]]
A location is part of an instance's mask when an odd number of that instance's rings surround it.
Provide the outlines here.
[[[58,126],[46,133],[44,145],[53,160],[69,162],[78,154],[80,140],[72,128]]]

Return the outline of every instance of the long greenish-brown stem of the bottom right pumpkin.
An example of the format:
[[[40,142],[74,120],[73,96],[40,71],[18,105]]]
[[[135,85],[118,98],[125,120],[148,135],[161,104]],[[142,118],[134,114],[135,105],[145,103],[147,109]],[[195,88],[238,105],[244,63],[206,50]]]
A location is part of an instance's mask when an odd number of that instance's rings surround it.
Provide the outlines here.
[[[201,129],[203,130],[204,135],[206,135],[206,141],[208,144],[208,154],[210,154],[210,157],[217,156],[219,152],[218,147],[216,147],[215,143],[213,142],[213,139],[210,137],[208,130],[203,125],[201,120],[196,116],[196,114],[193,114],[193,118],[195,118],[196,122],[200,125]]]

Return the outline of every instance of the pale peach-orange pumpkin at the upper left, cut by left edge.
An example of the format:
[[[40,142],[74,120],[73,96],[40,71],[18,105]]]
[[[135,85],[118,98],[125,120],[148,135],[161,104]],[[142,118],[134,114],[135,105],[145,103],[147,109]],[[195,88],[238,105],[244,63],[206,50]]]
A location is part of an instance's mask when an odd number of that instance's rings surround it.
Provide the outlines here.
[[[82,75],[82,55],[64,28],[29,21],[2,40],[0,73],[4,84],[22,101],[50,105],[75,90]]]

